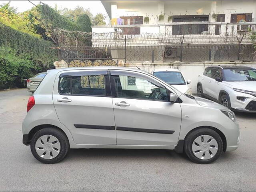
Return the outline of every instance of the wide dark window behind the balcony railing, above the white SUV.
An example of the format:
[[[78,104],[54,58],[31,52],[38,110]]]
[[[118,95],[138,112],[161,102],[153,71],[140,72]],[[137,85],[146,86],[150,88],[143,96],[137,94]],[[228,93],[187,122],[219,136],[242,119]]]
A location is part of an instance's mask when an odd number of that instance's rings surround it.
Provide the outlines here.
[[[208,21],[208,15],[173,16],[172,22],[200,22]],[[186,24],[172,26],[172,35],[202,34],[208,31],[207,24]]]

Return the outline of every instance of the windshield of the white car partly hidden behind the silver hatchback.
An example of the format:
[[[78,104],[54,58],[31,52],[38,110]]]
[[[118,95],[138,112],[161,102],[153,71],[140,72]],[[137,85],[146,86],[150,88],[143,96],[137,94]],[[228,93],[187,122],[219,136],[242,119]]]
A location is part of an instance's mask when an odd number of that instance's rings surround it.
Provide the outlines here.
[[[185,80],[182,74],[178,71],[158,71],[154,72],[154,76],[162,79],[171,85],[185,85]]]

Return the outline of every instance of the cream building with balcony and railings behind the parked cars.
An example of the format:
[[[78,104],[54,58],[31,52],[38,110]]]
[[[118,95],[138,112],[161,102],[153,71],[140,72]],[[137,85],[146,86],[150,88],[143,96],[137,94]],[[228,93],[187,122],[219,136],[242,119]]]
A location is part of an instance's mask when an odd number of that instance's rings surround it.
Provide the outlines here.
[[[92,26],[92,47],[125,66],[177,67],[192,79],[215,64],[254,66],[256,1],[101,1],[108,26]],[[200,67],[198,67],[200,66]]]

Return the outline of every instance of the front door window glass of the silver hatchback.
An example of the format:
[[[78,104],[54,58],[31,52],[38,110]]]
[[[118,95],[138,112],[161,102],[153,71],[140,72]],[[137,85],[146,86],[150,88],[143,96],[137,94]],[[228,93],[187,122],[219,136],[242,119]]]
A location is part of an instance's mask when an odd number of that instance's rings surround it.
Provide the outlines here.
[[[166,88],[160,88],[146,79],[133,76],[112,76],[117,97],[168,101]]]

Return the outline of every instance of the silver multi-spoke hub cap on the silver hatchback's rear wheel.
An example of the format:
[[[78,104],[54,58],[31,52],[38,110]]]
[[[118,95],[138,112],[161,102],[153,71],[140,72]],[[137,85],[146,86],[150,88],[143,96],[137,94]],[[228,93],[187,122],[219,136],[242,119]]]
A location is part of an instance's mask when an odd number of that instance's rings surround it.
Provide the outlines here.
[[[44,159],[53,159],[60,152],[60,142],[52,135],[43,135],[36,141],[36,153]]]

